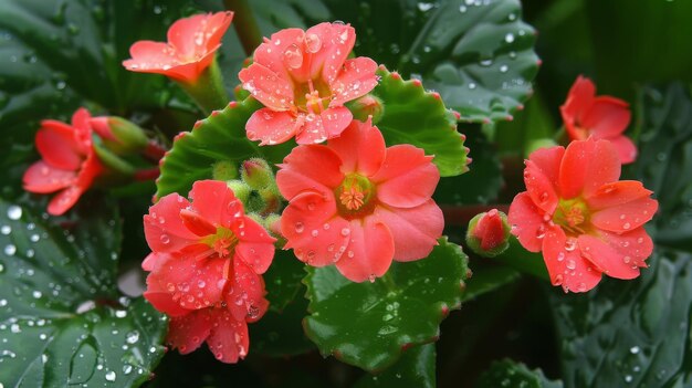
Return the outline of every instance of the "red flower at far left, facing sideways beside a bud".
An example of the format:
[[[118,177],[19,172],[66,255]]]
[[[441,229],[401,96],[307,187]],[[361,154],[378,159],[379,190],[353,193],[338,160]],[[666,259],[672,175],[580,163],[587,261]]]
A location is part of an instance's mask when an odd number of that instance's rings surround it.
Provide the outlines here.
[[[24,190],[38,193],[60,191],[48,212],[60,216],[70,210],[94,178],[104,171],[92,146],[91,116],[85,108],[72,116],[72,126],[45,119],[36,133],[35,144],[43,158],[24,172]]]

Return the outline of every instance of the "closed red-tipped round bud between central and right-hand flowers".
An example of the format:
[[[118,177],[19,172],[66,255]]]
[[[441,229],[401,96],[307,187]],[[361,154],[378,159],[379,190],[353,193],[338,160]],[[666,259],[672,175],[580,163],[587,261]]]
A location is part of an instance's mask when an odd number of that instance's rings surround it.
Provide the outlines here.
[[[507,216],[497,209],[476,214],[469,222],[466,244],[484,258],[494,258],[510,245]]]

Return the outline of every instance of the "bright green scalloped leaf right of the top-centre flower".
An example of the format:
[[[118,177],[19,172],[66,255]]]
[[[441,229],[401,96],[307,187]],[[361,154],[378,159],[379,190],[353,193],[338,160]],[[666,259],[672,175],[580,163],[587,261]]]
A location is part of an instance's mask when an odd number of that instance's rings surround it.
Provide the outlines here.
[[[442,177],[468,171],[464,137],[457,132],[454,114],[444,107],[436,93],[426,92],[418,81],[380,67],[379,84],[373,94],[382,101],[385,113],[377,127],[388,145],[411,144],[434,155],[432,162]]]

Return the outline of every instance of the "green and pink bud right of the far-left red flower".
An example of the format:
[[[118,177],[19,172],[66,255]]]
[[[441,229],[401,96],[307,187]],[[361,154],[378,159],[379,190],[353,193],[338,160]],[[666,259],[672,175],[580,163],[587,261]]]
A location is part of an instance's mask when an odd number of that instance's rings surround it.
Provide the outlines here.
[[[122,117],[94,117],[90,124],[103,140],[103,145],[117,155],[138,153],[145,149],[149,141],[141,128]]]

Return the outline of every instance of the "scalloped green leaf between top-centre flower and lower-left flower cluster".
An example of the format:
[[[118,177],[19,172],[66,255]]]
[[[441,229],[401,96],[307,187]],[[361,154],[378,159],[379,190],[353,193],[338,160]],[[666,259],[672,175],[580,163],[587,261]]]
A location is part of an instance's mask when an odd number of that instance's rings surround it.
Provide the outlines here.
[[[260,147],[245,135],[245,123],[260,107],[262,105],[254,98],[232,102],[199,120],[192,132],[179,134],[170,151],[161,159],[156,197],[171,192],[187,196],[195,181],[213,177],[218,162],[240,167],[241,161],[258,156],[270,164],[281,162],[294,143]]]

